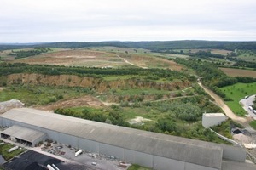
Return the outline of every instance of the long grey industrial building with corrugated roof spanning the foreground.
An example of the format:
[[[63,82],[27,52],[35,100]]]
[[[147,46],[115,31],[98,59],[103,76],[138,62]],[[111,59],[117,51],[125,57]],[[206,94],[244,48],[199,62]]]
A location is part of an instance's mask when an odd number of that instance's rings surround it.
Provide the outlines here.
[[[12,109],[0,115],[0,126],[9,127],[1,132],[3,137],[28,140],[28,136],[38,132],[34,139],[29,139],[32,145],[38,139],[44,139],[45,134],[46,139],[160,170],[236,170],[239,166],[248,170],[255,168],[243,163],[246,151],[241,148],[92,122],[47,111]],[[14,133],[20,127],[26,138]],[[234,161],[239,161],[239,166]]]

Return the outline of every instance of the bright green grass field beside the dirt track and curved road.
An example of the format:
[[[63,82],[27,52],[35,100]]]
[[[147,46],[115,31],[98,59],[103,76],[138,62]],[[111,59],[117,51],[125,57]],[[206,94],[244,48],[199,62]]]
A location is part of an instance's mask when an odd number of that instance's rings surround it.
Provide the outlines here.
[[[256,94],[256,82],[254,83],[236,83],[232,86],[227,86],[221,88],[228,99],[232,101],[226,101],[225,103],[230,106],[230,109],[234,111],[239,116],[244,116],[247,114],[244,109],[242,109],[239,101],[247,95]]]

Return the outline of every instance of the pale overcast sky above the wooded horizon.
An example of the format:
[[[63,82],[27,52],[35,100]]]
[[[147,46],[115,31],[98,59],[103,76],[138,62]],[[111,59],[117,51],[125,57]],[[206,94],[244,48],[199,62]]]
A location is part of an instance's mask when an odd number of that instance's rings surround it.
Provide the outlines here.
[[[256,41],[256,0],[1,0],[0,42]]]

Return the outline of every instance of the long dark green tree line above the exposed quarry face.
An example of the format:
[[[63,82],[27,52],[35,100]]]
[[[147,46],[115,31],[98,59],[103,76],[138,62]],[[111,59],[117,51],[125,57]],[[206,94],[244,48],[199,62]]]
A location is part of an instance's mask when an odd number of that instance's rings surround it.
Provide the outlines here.
[[[97,68],[97,67],[74,67],[62,65],[28,65],[25,63],[1,63],[0,75],[9,75],[14,73],[40,73],[45,75],[78,75],[102,78],[104,76],[141,76],[148,80],[157,80],[159,78],[177,78],[189,79],[195,81],[195,77],[179,71],[168,69],[142,69],[142,68]]]

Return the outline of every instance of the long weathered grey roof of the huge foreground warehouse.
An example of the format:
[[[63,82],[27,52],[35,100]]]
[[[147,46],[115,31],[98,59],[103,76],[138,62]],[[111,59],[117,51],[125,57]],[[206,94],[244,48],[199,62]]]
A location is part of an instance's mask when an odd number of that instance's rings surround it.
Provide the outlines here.
[[[12,109],[0,116],[2,117],[154,156],[221,168],[223,148],[220,144],[92,122],[28,108]]]

